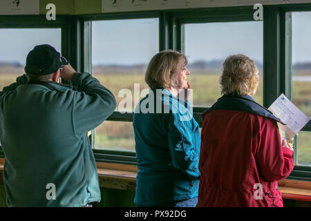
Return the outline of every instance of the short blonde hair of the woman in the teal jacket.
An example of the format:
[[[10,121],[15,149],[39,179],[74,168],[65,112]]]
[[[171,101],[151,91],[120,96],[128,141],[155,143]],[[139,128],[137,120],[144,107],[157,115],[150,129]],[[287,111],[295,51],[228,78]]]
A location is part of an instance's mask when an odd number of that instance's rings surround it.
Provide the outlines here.
[[[178,61],[183,59],[188,64],[187,57],[174,50],[162,50],[154,55],[146,70],[144,81],[151,89],[176,88],[176,68]]]

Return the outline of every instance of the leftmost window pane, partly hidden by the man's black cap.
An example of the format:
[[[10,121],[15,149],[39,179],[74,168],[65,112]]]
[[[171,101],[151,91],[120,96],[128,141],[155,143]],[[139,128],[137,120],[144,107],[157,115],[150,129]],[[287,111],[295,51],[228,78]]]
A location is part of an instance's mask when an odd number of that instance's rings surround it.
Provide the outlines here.
[[[0,28],[0,90],[24,73],[28,52],[39,44],[61,51],[60,28]]]

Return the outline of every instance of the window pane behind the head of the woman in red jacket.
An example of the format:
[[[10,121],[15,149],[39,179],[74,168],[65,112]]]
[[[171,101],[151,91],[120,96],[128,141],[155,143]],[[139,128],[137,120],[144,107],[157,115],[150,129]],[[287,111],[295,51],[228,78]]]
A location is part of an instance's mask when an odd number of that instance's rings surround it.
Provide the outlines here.
[[[243,54],[254,60],[260,84],[254,99],[263,104],[263,22],[185,24],[185,54],[189,59],[189,83],[194,106],[211,106],[220,97],[219,77],[229,55]]]

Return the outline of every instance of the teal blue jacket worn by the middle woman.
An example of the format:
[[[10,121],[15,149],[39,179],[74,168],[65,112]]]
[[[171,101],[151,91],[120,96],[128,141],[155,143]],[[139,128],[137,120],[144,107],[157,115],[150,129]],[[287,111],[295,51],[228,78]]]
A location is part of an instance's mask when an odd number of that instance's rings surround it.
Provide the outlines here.
[[[151,90],[134,113],[138,206],[198,197],[200,128],[188,102],[160,91]]]

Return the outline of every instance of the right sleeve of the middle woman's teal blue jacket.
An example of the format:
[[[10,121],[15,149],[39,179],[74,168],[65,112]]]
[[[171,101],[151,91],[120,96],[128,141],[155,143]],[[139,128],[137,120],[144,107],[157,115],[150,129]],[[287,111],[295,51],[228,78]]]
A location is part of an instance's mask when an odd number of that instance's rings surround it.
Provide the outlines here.
[[[187,174],[191,180],[196,180],[200,177],[196,151],[200,150],[194,146],[196,143],[193,140],[192,131],[187,130],[185,122],[180,121],[177,114],[170,113],[168,115],[169,151],[172,164],[176,169]]]

